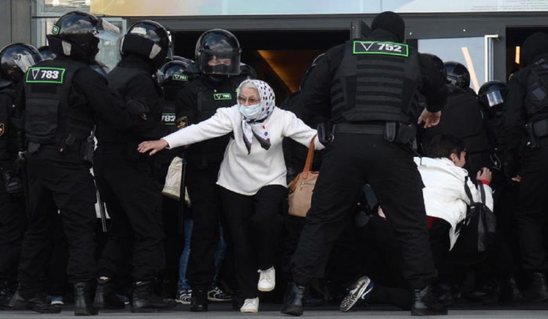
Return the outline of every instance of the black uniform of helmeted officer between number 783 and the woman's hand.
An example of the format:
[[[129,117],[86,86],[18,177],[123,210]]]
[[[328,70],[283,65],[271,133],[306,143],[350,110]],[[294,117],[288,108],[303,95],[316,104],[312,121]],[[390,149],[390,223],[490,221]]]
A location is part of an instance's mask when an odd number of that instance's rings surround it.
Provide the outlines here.
[[[137,151],[140,142],[164,134],[162,92],[151,76],[154,70],[151,61],[128,55],[107,75],[109,87],[126,102],[140,100],[150,112],[124,134],[102,123],[97,129],[94,171],[111,217],[109,240],[99,260],[100,276],[119,275],[128,257],[133,258],[135,281],[153,280],[164,268],[161,187],[153,159]]]

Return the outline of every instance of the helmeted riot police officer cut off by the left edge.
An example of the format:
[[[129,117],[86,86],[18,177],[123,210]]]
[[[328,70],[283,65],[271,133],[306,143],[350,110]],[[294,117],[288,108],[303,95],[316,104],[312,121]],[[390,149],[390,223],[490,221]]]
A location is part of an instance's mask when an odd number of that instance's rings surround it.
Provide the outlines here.
[[[7,306],[16,286],[26,214],[21,171],[21,132],[13,123],[15,88],[36,62],[42,60],[29,44],[10,44],[0,51],[0,307]]]

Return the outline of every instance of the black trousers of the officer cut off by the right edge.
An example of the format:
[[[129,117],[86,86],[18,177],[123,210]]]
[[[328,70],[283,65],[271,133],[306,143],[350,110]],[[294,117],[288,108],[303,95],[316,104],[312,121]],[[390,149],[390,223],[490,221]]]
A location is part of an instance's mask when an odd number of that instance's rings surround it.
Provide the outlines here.
[[[524,155],[516,212],[523,268],[534,272],[542,272],[548,266],[543,235],[548,217],[548,137],[541,138],[539,143],[539,148],[527,149]]]

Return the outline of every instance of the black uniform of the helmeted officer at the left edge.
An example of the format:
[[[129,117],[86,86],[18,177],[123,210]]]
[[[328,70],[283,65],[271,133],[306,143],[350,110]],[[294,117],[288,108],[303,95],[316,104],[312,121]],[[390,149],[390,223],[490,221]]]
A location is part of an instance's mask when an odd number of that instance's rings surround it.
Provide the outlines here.
[[[10,123],[15,109],[14,98],[13,83],[0,79],[0,289],[13,288],[26,225],[22,184],[15,169],[19,143],[17,131]],[[19,189],[15,194],[8,194],[6,183],[14,181],[13,178],[19,179],[19,186],[16,187]],[[1,294],[0,306],[7,301],[3,298],[11,297]]]

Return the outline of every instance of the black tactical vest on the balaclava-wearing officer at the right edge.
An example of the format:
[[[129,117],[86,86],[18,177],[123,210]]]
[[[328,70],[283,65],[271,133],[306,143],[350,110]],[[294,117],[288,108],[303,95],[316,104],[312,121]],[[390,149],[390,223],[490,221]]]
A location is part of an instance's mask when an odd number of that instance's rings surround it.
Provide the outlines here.
[[[548,113],[548,61],[541,59],[530,66],[526,88],[527,114]]]

